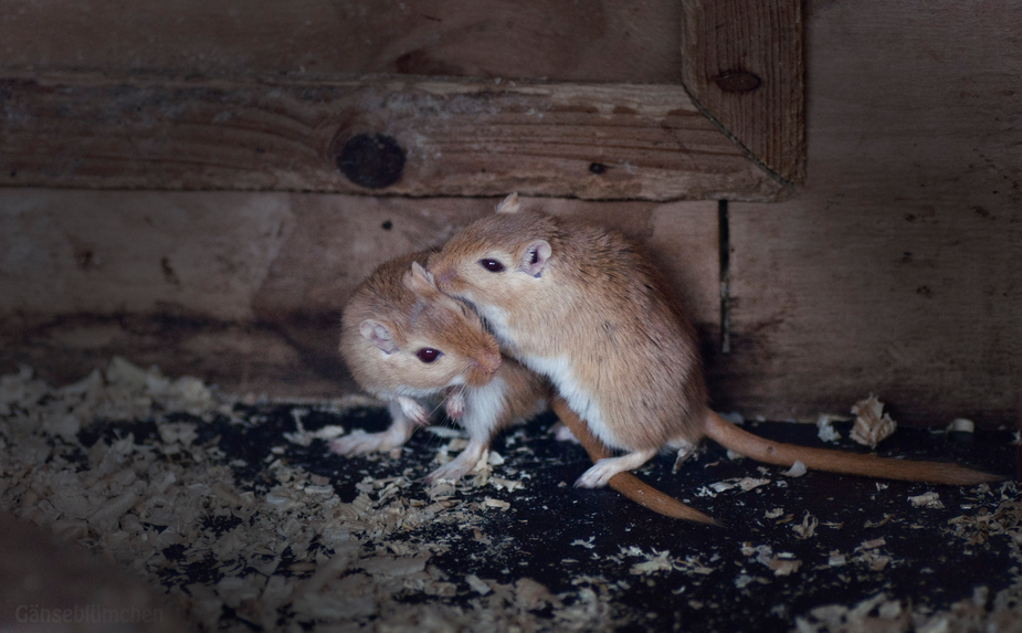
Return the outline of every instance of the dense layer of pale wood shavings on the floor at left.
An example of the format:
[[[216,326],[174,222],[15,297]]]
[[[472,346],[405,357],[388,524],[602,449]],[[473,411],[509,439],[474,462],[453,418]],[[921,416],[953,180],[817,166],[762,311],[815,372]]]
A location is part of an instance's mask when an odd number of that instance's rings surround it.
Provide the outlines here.
[[[288,443],[306,446],[339,432],[308,432],[307,412],[293,411],[297,430]],[[471,483],[422,490],[404,477],[367,477],[355,499],[343,503],[329,479],[275,457],[262,465],[273,485],[240,486],[231,468],[247,463],[228,465],[217,442],[202,440],[203,425],[218,416],[251,422],[193,378],[171,380],[115,358],[105,372],[54,390],[22,369],[0,378],[0,508],[131,568],[200,630],[355,632],[428,621],[436,631],[560,631],[600,629],[608,618],[608,598],[588,588],[555,597],[528,578],[513,584],[465,578],[460,585],[432,562],[450,545],[392,538],[443,523],[476,524],[472,504],[457,499],[459,486]],[[151,420],[138,429],[145,433],[148,424],[152,435],[143,442],[126,432],[80,445],[77,435],[102,419]],[[484,467],[501,463],[491,454]],[[521,487],[506,476],[495,485]],[[424,497],[415,498],[417,490]],[[486,498],[482,506],[510,504]],[[201,568],[217,570],[200,574],[209,583],[196,580]],[[484,585],[484,602],[443,602]],[[432,600],[405,603],[417,594]]]

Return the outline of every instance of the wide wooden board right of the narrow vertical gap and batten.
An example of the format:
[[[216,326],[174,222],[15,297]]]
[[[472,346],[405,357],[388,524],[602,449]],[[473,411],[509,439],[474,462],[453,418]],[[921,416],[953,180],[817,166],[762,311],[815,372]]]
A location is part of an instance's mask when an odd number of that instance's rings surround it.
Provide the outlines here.
[[[900,422],[1014,424],[1022,56],[1010,10],[816,8],[805,188],[766,210],[730,205],[735,346],[715,359],[718,403],[812,420],[873,391]]]

